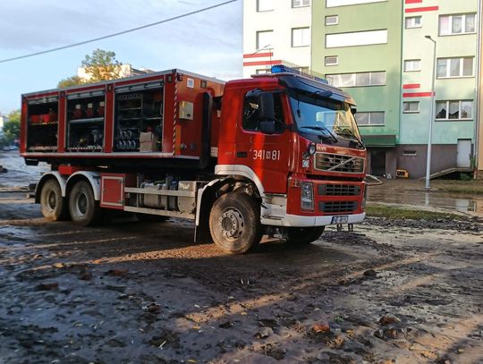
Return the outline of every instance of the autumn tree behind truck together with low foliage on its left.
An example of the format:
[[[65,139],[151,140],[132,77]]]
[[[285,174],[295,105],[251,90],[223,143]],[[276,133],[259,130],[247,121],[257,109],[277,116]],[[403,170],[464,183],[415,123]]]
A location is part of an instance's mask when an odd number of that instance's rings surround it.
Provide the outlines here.
[[[79,76],[72,76],[57,83],[58,88],[65,88],[69,86],[81,85],[83,83],[94,83],[101,80],[114,80],[121,76],[120,63],[115,59],[115,53],[112,51],[105,51],[97,48],[92,51],[91,55],[86,55],[81,62],[85,69],[88,78],[80,78]]]

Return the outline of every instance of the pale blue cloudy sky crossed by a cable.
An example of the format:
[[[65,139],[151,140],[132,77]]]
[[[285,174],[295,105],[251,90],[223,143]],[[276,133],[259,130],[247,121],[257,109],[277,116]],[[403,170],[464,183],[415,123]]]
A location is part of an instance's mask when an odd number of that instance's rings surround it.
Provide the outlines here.
[[[224,0],[2,0],[0,59],[62,47],[162,21]],[[96,48],[121,63],[209,77],[242,77],[242,0],[119,37],[0,63],[0,114],[21,106],[21,94],[55,89]]]

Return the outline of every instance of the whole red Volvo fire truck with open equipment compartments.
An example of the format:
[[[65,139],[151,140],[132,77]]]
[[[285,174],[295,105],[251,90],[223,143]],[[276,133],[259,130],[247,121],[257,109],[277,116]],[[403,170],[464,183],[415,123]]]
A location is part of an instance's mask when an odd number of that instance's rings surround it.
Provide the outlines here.
[[[50,220],[106,209],[195,222],[195,240],[244,253],[264,233],[316,241],[365,216],[366,149],[352,97],[275,65],[223,82],[182,70],[22,95],[21,157],[47,162]]]

